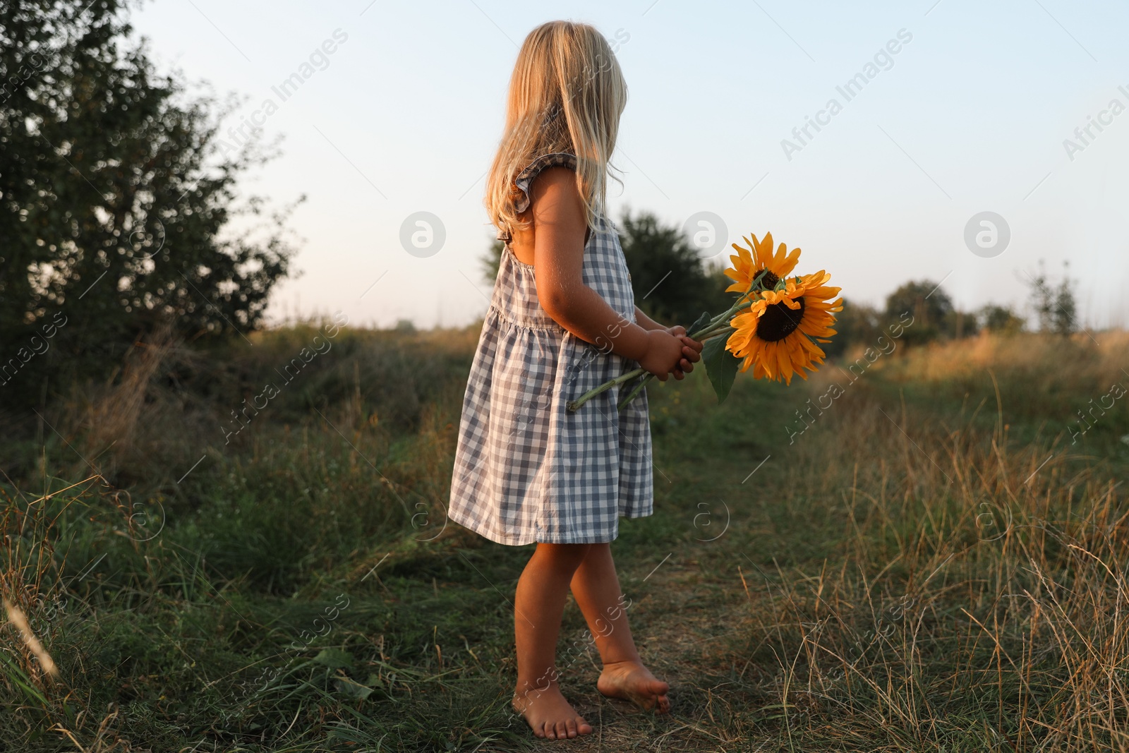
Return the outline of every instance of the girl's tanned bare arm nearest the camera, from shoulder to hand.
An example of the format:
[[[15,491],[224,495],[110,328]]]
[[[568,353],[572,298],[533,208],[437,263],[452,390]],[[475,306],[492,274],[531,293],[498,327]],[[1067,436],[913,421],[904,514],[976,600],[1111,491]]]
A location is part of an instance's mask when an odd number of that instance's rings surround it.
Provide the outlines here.
[[[665,382],[671,371],[677,378],[683,371],[692,371],[701,358],[700,345],[693,347],[699,343],[665,329],[629,322],[584,283],[588,228],[576,174],[566,167],[550,167],[533,182],[532,193],[533,268],[537,298],[545,313],[581,340],[639,361],[660,380]]]

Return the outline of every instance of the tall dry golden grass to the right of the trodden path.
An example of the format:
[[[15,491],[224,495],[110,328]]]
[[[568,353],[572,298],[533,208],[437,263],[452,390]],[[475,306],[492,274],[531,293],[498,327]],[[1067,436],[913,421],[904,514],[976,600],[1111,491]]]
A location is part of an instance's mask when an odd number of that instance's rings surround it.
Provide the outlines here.
[[[841,558],[743,573],[764,579],[750,614],[794,750],[1129,750],[1129,453],[1052,420],[1129,360],[1124,333],[1097,339],[891,359],[803,438],[782,504],[840,531]],[[1016,417],[1040,432],[1016,441]]]

